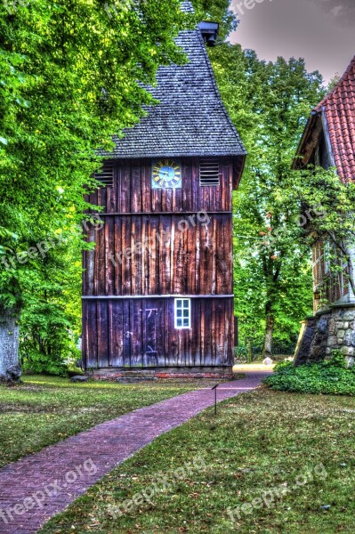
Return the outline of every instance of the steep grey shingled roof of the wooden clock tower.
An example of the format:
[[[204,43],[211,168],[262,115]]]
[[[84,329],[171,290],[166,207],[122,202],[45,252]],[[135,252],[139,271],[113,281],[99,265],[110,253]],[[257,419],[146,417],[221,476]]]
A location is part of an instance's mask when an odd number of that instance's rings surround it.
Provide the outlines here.
[[[190,2],[182,9],[191,12]],[[161,67],[149,92],[159,101],[125,136],[114,136],[111,158],[245,156],[246,150],[223,106],[201,31],[182,31],[176,43],[184,65]]]

